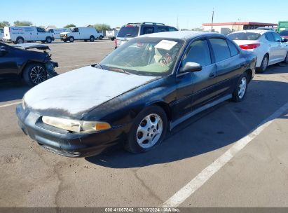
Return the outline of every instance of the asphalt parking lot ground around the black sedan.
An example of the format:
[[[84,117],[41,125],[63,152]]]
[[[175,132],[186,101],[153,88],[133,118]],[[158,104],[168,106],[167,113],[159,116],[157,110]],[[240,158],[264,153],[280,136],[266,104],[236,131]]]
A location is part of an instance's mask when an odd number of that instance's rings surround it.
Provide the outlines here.
[[[114,50],[108,40],[49,46],[59,74]],[[189,119],[139,155],[118,147],[66,158],[42,149],[15,117],[27,90],[0,85],[1,207],[288,207],[288,66],[256,74],[245,101]]]

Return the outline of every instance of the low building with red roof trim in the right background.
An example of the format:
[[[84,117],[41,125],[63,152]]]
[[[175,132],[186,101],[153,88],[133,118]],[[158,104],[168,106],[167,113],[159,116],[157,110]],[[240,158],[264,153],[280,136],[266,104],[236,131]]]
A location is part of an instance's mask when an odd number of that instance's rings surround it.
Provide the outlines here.
[[[204,31],[211,31],[212,23],[202,24]],[[231,32],[245,30],[245,29],[256,29],[258,27],[275,27],[277,24],[272,23],[261,23],[261,22],[224,22],[224,23],[213,23],[213,31],[221,34],[229,34]]]

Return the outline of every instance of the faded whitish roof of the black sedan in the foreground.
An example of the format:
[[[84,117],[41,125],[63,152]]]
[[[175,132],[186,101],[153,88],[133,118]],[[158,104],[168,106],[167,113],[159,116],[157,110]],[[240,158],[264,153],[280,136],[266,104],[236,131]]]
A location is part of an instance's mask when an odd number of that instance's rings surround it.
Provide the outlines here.
[[[167,38],[167,39],[193,39],[198,36],[223,36],[216,32],[200,32],[200,31],[174,31],[174,32],[158,32],[153,34],[145,34],[139,37],[149,38]]]

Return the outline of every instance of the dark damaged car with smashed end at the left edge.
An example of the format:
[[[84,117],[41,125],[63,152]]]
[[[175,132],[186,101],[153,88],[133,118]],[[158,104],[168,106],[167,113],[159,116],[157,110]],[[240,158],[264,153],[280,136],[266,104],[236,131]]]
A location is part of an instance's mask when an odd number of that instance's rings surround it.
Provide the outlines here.
[[[58,64],[51,61],[47,50],[48,46],[39,43],[9,46],[0,42],[0,80],[24,79],[34,86],[57,76],[54,68]]]

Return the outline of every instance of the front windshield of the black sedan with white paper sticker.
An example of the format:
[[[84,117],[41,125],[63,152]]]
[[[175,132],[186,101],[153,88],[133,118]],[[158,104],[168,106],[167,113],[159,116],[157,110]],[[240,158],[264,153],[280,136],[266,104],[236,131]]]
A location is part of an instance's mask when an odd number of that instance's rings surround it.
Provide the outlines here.
[[[105,57],[100,66],[128,74],[165,76],[172,73],[183,43],[179,39],[132,39]]]

